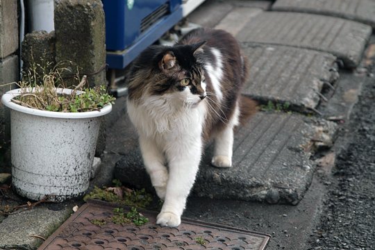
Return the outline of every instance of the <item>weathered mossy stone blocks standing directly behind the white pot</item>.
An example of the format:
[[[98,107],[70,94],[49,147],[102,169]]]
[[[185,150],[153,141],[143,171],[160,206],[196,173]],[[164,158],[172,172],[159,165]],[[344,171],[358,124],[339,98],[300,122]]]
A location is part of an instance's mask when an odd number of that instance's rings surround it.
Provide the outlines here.
[[[58,65],[65,71],[64,85],[78,73],[88,76],[91,87],[106,83],[106,26],[101,0],[58,0],[54,12],[55,31],[33,31],[22,43],[23,71],[33,65]],[[38,72],[39,74],[41,72]]]

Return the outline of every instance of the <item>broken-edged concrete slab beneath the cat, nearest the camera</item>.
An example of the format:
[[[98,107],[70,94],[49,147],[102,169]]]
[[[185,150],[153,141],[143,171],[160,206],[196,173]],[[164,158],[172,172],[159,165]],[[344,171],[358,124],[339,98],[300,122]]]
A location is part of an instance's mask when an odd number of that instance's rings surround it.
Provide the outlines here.
[[[212,167],[213,149],[208,147],[193,192],[215,199],[297,204],[313,178],[315,166],[310,155],[315,147],[332,144],[334,134],[335,124],[331,122],[258,113],[235,134],[234,167]],[[153,190],[138,147],[117,162],[115,178],[135,188]]]

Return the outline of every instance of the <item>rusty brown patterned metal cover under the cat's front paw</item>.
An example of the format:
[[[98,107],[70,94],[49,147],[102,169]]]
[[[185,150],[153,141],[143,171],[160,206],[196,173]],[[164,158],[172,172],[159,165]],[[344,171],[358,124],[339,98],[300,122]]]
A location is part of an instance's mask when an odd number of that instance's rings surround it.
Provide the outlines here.
[[[183,219],[178,228],[155,224],[156,213],[142,211],[149,222],[142,226],[110,222],[114,205],[105,202],[85,203],[58,228],[41,249],[265,249],[269,235],[238,228]],[[124,208],[125,210],[127,208]],[[106,219],[96,226],[92,219]],[[197,240],[200,239],[200,240]]]

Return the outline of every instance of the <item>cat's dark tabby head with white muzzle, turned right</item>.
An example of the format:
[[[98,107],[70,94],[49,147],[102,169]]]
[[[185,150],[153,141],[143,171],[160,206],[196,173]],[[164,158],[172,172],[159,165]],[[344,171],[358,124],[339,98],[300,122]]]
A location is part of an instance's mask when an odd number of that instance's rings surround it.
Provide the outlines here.
[[[206,79],[199,53],[205,42],[154,46],[135,60],[128,76],[128,97],[161,97],[175,105],[196,107],[206,97]]]

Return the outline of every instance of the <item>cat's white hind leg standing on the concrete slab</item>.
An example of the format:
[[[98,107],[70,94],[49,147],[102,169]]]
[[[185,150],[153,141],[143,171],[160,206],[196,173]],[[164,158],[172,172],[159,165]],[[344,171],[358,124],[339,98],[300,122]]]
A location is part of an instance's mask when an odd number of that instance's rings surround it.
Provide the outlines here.
[[[215,137],[214,156],[211,164],[215,167],[232,167],[234,128],[239,124],[240,109],[235,106],[235,111],[228,124]]]

